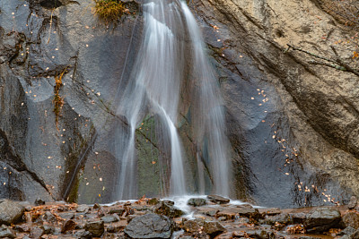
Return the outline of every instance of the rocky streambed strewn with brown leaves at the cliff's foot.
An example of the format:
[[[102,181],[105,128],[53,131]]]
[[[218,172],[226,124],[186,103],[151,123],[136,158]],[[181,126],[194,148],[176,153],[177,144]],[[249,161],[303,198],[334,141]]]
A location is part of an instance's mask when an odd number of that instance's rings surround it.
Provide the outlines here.
[[[0,201],[0,238],[359,238],[356,198],[349,205],[256,208],[220,196],[141,199],[109,205]],[[186,210],[186,211],[184,211]]]

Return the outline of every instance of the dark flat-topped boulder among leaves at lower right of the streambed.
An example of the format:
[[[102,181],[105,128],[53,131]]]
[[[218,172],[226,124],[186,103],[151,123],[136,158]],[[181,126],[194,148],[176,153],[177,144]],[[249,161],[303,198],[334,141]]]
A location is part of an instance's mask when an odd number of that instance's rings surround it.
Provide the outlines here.
[[[329,228],[339,226],[340,219],[340,211],[337,209],[315,209],[308,214],[304,227],[309,233],[321,233],[328,231]]]

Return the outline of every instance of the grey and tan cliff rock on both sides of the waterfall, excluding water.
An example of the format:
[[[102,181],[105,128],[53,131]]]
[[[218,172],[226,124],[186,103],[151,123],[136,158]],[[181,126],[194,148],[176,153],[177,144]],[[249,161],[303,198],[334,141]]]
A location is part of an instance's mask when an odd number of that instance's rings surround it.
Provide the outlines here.
[[[127,122],[114,114],[113,98],[127,84],[142,30],[138,4],[126,3],[134,14],[104,26],[91,13],[92,0],[0,2],[0,198],[117,200],[115,135]],[[278,207],[358,196],[358,77],[309,64],[313,59],[299,51],[285,53],[290,43],[335,58],[335,47],[350,63],[354,43],[336,42],[354,34],[314,0],[188,4],[223,93],[231,196]],[[180,135],[189,155],[184,126]],[[148,147],[147,134],[138,137],[141,157],[158,151]],[[143,160],[159,166],[153,162]],[[161,182],[147,180],[156,170],[139,177],[146,195],[162,195],[150,190]]]

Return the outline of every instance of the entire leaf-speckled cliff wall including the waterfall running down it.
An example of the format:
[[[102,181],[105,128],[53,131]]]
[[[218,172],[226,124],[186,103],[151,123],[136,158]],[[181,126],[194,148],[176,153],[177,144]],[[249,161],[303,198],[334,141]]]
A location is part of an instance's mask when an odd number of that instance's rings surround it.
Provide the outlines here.
[[[353,42],[335,44],[352,33],[321,1],[126,2],[134,14],[106,26],[92,0],[0,1],[0,198],[199,192],[301,207],[359,195],[358,77],[286,51],[352,59]]]

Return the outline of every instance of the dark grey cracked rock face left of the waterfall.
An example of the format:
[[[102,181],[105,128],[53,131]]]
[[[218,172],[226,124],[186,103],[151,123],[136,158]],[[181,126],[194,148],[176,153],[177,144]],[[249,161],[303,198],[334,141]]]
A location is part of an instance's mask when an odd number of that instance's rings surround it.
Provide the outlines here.
[[[113,133],[103,125],[121,124],[109,102],[141,21],[136,3],[127,1],[131,17],[107,28],[92,3],[0,3],[0,198],[113,200],[118,162]],[[62,81],[57,90],[56,81]]]

